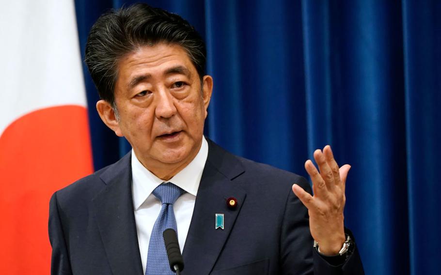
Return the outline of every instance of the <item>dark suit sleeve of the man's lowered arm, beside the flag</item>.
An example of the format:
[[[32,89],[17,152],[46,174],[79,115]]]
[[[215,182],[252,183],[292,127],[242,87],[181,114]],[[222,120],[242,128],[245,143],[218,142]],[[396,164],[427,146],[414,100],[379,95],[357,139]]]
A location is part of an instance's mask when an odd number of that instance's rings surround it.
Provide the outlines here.
[[[71,275],[69,254],[60,218],[57,193],[49,202],[49,240],[52,246],[51,275]]]

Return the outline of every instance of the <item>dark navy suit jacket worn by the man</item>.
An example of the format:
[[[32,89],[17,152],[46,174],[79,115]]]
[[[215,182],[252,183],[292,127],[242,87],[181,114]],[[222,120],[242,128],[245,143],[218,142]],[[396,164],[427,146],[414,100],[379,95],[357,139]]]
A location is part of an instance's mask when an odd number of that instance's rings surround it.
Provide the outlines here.
[[[313,249],[307,209],[291,191],[298,183],[311,192],[304,178],[208,144],[183,275],[363,274],[357,249],[340,266]],[[129,153],[52,196],[52,274],[143,274],[131,181]],[[218,213],[223,230],[215,229]]]

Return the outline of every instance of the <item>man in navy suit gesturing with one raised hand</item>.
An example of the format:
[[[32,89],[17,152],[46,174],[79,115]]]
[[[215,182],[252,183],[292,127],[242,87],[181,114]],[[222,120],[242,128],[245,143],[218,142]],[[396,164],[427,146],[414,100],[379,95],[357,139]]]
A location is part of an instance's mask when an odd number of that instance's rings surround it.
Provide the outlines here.
[[[311,196],[304,178],[204,138],[213,79],[187,21],[146,4],[102,15],[86,63],[101,119],[133,150],[53,195],[53,274],[172,274],[164,228],[177,229],[182,274],[363,274],[343,223],[350,167],[329,146],[319,171],[305,163]]]

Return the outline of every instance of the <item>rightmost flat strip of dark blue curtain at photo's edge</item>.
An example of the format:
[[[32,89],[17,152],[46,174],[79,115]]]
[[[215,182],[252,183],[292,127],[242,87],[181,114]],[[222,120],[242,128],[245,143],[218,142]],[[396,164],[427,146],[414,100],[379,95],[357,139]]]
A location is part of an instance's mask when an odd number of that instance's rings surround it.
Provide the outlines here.
[[[441,2],[403,1],[409,240],[412,274],[439,268]],[[430,253],[422,253],[430,251]]]

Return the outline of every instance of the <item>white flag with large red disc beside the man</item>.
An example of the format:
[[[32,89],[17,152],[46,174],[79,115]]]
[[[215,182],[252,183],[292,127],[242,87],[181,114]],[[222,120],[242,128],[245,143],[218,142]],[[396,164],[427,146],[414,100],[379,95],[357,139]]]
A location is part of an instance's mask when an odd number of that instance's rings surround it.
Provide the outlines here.
[[[93,171],[73,0],[0,9],[0,274],[49,274],[48,203]]]

